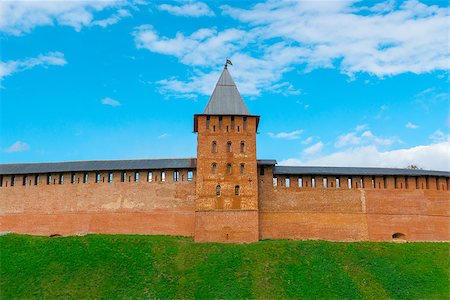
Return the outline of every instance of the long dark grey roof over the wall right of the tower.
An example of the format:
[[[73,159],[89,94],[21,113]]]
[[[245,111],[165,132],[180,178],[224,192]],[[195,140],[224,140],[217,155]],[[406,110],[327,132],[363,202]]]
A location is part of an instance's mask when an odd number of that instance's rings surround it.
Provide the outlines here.
[[[417,169],[393,168],[357,168],[357,167],[307,167],[307,166],[275,166],[274,175],[370,175],[370,176],[443,176],[449,177],[450,172]]]

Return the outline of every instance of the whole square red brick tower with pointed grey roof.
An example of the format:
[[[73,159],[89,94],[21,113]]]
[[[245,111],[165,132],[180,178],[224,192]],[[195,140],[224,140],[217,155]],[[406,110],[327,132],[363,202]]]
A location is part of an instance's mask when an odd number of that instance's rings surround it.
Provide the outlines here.
[[[258,240],[258,122],[225,65],[205,111],[194,116],[196,241]]]

